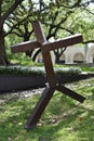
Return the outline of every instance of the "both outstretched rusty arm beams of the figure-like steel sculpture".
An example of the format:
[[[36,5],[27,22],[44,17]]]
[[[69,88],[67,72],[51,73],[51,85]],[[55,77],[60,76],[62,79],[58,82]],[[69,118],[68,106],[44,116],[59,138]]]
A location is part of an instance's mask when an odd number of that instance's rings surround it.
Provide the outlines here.
[[[13,53],[26,52],[31,49],[42,48],[43,52],[52,51],[55,49],[72,46],[82,42],[82,35],[77,34],[54,42],[43,42],[40,44],[38,41],[26,41],[23,43],[14,44],[11,47]]]

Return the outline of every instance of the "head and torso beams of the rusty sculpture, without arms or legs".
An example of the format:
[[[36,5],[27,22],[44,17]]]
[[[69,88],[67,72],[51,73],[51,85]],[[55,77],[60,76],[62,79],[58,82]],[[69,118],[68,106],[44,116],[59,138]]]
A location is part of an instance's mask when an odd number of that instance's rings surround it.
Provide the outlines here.
[[[41,52],[42,52],[42,43],[45,42],[46,39],[44,37],[40,22],[35,22],[32,24],[32,28],[33,28],[33,31],[35,31],[35,35],[36,35],[38,42],[41,43],[40,48],[41,48]],[[43,56],[43,61],[44,61],[44,66],[45,66],[45,72],[46,72],[49,85],[51,87],[55,87],[56,86],[55,73],[54,73],[54,69],[53,69],[51,54],[50,54],[49,51],[42,52],[42,56]]]

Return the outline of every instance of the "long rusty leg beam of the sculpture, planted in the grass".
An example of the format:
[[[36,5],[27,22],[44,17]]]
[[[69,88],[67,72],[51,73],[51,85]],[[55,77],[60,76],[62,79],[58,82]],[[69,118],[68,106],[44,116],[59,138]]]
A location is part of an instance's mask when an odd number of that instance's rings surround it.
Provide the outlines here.
[[[33,108],[30,118],[28,119],[25,128],[33,129],[37,126],[38,120],[40,119],[43,111],[45,110],[49,101],[51,100],[55,89],[46,86],[40,100],[38,101],[36,107]]]

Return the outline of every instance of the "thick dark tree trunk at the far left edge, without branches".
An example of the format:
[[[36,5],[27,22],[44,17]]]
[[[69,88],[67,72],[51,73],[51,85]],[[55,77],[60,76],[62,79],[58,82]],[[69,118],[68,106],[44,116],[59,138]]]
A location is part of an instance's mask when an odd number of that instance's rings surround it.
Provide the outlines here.
[[[0,65],[8,65],[9,60],[6,56],[5,46],[4,46],[4,34],[0,30]]]

